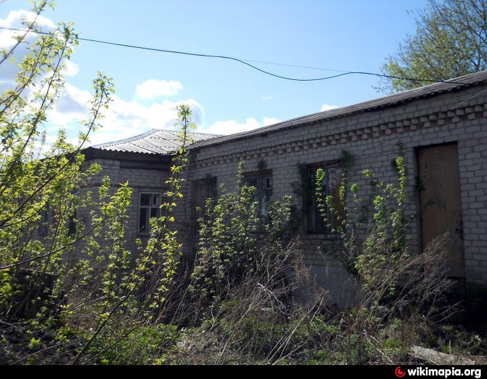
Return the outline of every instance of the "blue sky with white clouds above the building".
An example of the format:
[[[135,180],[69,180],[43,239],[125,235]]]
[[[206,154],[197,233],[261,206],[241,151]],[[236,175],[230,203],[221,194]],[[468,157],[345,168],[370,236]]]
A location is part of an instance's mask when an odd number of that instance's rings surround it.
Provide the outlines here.
[[[49,29],[74,22],[82,38],[126,45],[315,67],[252,63],[309,79],[340,74],[334,70],[380,72],[385,58],[415,31],[408,11],[425,5],[426,0],[57,0],[40,24]],[[19,27],[29,9],[27,0],[0,2],[0,26]],[[13,44],[12,34],[0,30],[0,48]],[[10,67],[1,66],[0,89],[13,80],[19,54]],[[373,88],[375,76],[287,81],[234,61],[80,41],[65,72],[63,95],[46,122],[51,138],[60,127],[76,138],[98,71],[116,86],[91,143],[173,129],[180,103],[191,106],[198,131],[232,134],[385,95]]]

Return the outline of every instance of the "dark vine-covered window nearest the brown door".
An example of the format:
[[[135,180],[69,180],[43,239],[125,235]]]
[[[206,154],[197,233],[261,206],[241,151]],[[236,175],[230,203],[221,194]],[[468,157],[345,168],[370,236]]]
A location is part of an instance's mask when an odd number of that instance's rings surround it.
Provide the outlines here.
[[[330,233],[330,227],[324,223],[323,216],[318,209],[317,195],[316,195],[316,172],[321,168],[326,173],[323,183],[323,193],[325,196],[331,195],[333,197],[333,205],[338,216],[343,215],[343,207],[340,203],[340,180],[342,169],[340,166],[334,165],[314,165],[308,167],[308,188],[309,196],[305,204],[308,208],[308,233]],[[335,214],[330,209],[326,209],[326,218],[332,227],[335,226]]]

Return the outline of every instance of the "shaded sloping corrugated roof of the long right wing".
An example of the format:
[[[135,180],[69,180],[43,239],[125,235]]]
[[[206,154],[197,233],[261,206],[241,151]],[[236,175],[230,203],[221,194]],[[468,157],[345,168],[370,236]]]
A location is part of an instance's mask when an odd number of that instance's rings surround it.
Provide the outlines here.
[[[413,90],[407,90],[399,92],[394,95],[380,97],[378,99],[369,100],[368,102],[362,102],[351,106],[344,106],[343,108],[331,109],[330,111],[324,111],[319,113],[313,113],[311,115],[301,116],[292,120],[279,122],[278,124],[269,125],[259,129],[251,131],[243,131],[237,134],[230,134],[229,136],[221,136],[218,138],[212,138],[211,140],[202,140],[195,142],[191,145],[191,148],[204,147],[207,145],[217,145],[225,143],[231,140],[239,140],[241,138],[248,138],[259,134],[272,133],[274,131],[280,131],[282,129],[289,129],[293,127],[300,127],[305,124],[311,124],[314,122],[320,122],[324,120],[331,120],[334,118],[341,118],[347,115],[353,115],[355,113],[374,111],[381,108],[388,108],[397,106],[399,104],[410,102],[415,99],[422,99],[425,97],[431,97],[439,95],[444,92],[452,92],[460,90],[462,88],[468,88],[472,86],[478,86],[481,83],[487,82],[487,70],[476,72],[474,74],[468,74],[460,76],[455,79],[450,79],[443,83],[434,83],[429,86],[423,86],[420,88],[414,88]]]

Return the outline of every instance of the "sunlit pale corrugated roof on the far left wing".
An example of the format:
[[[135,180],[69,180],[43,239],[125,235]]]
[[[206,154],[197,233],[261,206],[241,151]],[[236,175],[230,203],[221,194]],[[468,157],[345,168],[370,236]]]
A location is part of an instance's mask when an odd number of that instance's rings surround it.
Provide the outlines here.
[[[138,136],[116,140],[108,143],[90,146],[92,149],[109,150],[112,152],[135,152],[143,154],[171,154],[179,147],[175,130],[152,129]],[[189,132],[194,143],[209,138],[218,137],[218,134]]]

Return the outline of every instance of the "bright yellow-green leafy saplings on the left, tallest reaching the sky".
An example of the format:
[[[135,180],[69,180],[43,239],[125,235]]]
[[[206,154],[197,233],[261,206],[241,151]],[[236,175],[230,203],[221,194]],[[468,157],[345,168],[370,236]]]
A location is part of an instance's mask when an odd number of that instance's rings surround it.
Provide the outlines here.
[[[37,1],[33,11],[40,15],[47,6],[51,1]],[[38,31],[35,20],[24,24]],[[1,64],[27,43],[26,35],[3,52]],[[180,245],[170,226],[182,197],[191,111],[178,108],[180,149],[166,183],[169,191],[161,216],[151,220],[147,245],[131,257],[125,248],[131,188],[103,177],[95,195],[90,186],[102,167],[86,166],[82,154],[109,105],[113,81],[104,74],[93,81],[90,114],[77,146],[67,143],[61,130],[45,147],[47,112],[61,94],[77,33],[61,24],[39,35],[19,63],[15,88],[0,99],[0,316],[3,325],[28,318],[26,332],[42,333],[29,340],[29,350],[41,348],[47,337],[68,348],[70,362],[86,363],[159,317],[179,261]]]

